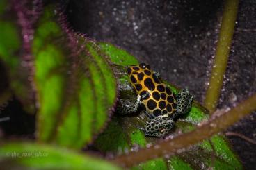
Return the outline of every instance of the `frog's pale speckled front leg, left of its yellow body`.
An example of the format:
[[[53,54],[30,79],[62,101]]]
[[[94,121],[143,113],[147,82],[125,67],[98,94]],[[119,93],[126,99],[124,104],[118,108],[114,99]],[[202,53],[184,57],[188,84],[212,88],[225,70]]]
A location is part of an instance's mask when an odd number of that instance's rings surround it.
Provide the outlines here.
[[[118,112],[121,114],[131,114],[138,110],[138,107],[141,104],[141,96],[137,95],[136,102],[127,99],[121,99],[119,103],[120,105],[117,108]]]

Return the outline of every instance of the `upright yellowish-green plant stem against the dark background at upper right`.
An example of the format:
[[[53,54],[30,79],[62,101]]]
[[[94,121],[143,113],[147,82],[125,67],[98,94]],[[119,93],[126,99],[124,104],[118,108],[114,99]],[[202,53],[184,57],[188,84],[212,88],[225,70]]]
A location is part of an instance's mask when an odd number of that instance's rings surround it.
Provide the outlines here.
[[[214,65],[211,70],[209,87],[205,96],[205,107],[212,113],[216,110],[218,99],[223,86],[223,76],[227,67],[230,53],[234,25],[237,19],[239,0],[226,0],[221,22],[221,31],[218,38]]]

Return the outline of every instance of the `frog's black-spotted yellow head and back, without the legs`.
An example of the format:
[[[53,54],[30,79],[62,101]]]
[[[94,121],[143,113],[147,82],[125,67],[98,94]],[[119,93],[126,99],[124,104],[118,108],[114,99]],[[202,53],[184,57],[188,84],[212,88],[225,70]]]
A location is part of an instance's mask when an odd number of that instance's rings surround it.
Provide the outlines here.
[[[157,117],[172,114],[177,107],[175,94],[167,87],[148,65],[140,64],[127,69],[131,85],[141,95],[141,103],[147,112]]]

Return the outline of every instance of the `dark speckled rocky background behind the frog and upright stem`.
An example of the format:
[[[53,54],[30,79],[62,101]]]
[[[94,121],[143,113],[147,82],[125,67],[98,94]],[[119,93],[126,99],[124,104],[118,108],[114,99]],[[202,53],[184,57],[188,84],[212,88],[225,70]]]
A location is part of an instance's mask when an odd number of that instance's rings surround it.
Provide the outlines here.
[[[222,10],[219,0],[73,0],[66,6],[75,31],[129,51],[163,78],[189,87],[201,103]],[[231,108],[256,92],[256,1],[240,1],[235,30],[218,108]],[[256,114],[250,114],[227,131],[256,140],[255,119]],[[254,169],[256,145],[239,137],[228,138],[244,167]]]

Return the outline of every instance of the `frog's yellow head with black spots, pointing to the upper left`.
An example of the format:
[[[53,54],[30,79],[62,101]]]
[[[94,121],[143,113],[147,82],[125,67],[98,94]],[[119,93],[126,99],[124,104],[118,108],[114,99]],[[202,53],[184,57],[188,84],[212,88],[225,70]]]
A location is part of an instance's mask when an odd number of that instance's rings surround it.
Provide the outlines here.
[[[141,86],[143,86],[142,82],[144,78],[146,76],[152,76],[150,65],[146,65],[145,63],[128,66],[127,72],[131,85],[133,85],[137,91],[140,91]]]

